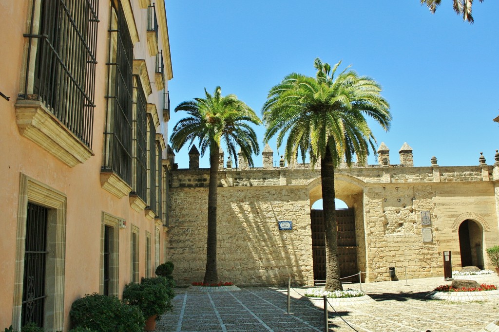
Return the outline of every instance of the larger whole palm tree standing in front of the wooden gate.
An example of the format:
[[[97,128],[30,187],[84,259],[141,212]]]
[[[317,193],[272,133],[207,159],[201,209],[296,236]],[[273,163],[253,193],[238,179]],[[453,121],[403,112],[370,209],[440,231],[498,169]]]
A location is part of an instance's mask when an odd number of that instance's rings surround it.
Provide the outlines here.
[[[351,166],[354,156],[364,163],[369,146],[376,142],[365,115],[386,131],[391,115],[381,87],[373,79],[359,76],[347,67],[334,77],[319,58],[314,61],[316,77],[291,73],[270,89],[262,107],[264,143],[277,134],[277,147],[285,140],[288,163],[306,155],[315,165],[320,160],[326,240],[326,290],[341,290],[337,255],[334,168],[344,158]]]

